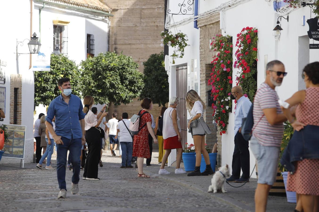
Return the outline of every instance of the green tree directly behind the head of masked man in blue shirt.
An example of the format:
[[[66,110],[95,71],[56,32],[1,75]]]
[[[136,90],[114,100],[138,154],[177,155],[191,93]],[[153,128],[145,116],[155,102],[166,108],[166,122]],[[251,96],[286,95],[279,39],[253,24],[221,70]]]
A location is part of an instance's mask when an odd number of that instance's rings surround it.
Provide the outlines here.
[[[57,81],[62,77],[70,78],[72,94],[81,97],[81,74],[75,62],[62,54],[52,54],[50,66],[50,71],[34,71],[34,106],[48,106],[60,95]]]

